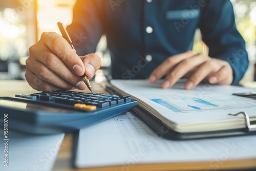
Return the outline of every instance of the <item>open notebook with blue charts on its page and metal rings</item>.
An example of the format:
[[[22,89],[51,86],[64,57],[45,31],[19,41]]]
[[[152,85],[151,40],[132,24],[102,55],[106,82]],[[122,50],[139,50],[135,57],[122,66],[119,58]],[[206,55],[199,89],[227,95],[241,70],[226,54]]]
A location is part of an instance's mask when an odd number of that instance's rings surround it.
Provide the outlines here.
[[[148,80],[111,80],[111,85],[115,93],[136,99],[135,112],[155,131],[166,130],[164,136],[167,138],[255,133],[248,129],[246,117],[251,125],[256,121],[256,101],[232,95],[253,91],[251,89],[205,83],[194,90],[184,90],[184,82],[178,82],[171,89],[162,89],[161,81],[152,84]]]

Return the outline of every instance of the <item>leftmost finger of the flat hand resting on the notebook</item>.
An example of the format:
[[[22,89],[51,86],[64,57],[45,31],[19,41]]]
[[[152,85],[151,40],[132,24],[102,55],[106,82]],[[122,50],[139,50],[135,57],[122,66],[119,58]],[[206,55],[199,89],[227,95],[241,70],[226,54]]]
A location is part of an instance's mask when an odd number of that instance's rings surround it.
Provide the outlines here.
[[[184,59],[166,76],[165,81],[162,83],[162,88],[167,89],[172,87],[181,77],[207,60],[209,58],[203,54]]]

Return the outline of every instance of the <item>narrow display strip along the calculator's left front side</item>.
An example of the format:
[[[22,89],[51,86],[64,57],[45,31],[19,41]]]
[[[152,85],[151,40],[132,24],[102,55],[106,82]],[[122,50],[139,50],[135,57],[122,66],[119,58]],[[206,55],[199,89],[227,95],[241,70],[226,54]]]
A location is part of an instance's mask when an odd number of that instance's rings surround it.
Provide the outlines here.
[[[27,102],[11,101],[11,100],[3,100],[3,99],[0,99],[0,105],[7,106],[9,108],[26,109],[26,110],[43,110],[43,111],[63,112],[63,113],[74,112],[72,110],[58,109],[58,108],[52,108],[49,106],[42,106],[42,105],[32,104]]]

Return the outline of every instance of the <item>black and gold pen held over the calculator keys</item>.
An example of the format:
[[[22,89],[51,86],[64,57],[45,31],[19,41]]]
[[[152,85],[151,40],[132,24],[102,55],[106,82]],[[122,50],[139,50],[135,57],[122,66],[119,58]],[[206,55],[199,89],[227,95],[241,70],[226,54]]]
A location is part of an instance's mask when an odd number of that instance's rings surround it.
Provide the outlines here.
[[[58,27],[59,27],[59,31],[62,34],[62,37],[65,38],[69,42],[69,45],[76,52],[76,50],[73,46],[72,40],[69,36],[69,33],[65,29],[63,23],[58,22],[57,24],[58,24]],[[82,77],[83,82],[86,83],[86,86],[88,87],[88,89],[92,92],[93,90],[92,90],[92,87],[91,87],[91,84],[89,82],[89,78],[87,77],[87,75],[84,73],[81,77]]]

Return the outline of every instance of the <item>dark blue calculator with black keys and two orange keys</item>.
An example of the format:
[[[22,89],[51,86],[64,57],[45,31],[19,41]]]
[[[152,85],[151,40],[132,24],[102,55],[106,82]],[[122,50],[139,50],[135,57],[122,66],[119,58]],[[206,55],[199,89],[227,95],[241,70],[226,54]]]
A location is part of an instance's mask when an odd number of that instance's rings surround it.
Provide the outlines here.
[[[130,111],[130,96],[75,91],[49,91],[0,97],[1,118],[8,129],[31,134],[72,132]],[[4,123],[0,123],[3,127]]]

